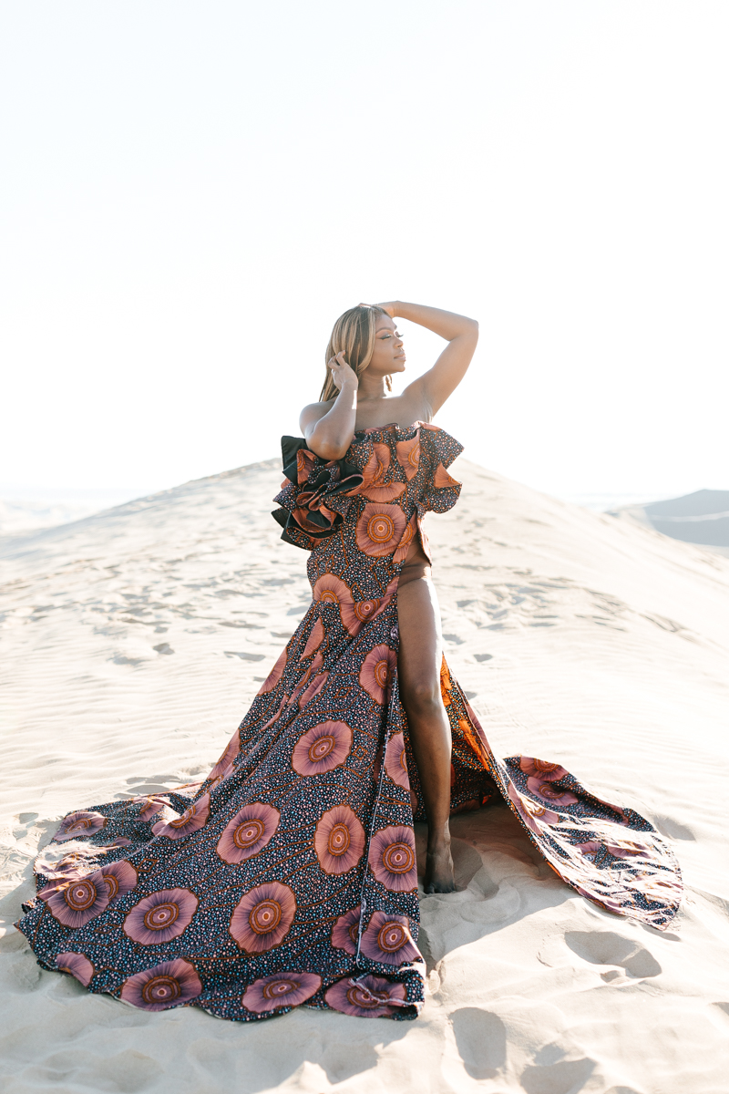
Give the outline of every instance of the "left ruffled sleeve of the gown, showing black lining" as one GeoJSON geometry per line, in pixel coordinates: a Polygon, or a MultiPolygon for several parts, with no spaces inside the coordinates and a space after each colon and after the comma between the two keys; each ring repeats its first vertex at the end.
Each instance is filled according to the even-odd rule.
{"type": "Polygon", "coordinates": [[[281,455],[285,478],[273,499],[281,508],[272,516],[285,543],[313,550],[345,520],[352,504],[348,494],[362,485],[363,474],[346,459],[325,463],[303,437],[282,437],[281,455]]]}

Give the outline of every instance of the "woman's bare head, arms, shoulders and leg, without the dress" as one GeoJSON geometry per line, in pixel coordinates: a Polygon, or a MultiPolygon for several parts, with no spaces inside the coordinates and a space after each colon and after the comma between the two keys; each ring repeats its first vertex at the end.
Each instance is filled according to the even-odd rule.
{"type": "MultiPolygon", "coordinates": [[[[324,385],[321,401],[302,411],[299,424],[307,447],[326,461],[341,459],[356,431],[376,431],[388,422],[407,431],[413,422],[430,422],[466,375],[478,340],[475,319],[437,307],[390,302],[346,312],[330,342],[332,351],[342,345],[346,352],[340,349],[328,361],[331,377],[324,385]],[[427,327],[448,341],[433,368],[399,396],[390,394],[391,375],[405,369],[396,316],[427,327]]],[[[399,691],[427,815],[425,892],[450,893],[455,888],[448,831],[450,723],[440,696],[440,617],[425,550],[416,533],[398,580],[399,691]]]]}

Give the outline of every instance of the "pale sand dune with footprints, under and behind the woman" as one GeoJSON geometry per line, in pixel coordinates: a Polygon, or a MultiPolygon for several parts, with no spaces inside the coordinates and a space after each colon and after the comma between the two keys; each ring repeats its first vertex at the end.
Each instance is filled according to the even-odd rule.
{"type": "Polygon", "coordinates": [[[209,769],[306,608],[257,464],[0,540],[4,1094],[726,1094],[729,559],[454,474],[428,517],[451,667],[497,753],[558,759],[674,842],[675,929],[578,897],[496,806],[454,822],[461,891],[422,898],[416,1022],[150,1014],[37,966],[11,924],[55,821],[209,769]]]}

